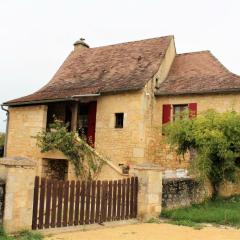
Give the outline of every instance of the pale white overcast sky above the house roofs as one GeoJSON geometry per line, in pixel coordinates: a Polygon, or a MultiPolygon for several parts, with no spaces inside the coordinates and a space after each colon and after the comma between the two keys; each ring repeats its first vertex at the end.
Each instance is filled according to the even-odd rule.
{"type": "MultiPolygon", "coordinates": [[[[47,83],[80,37],[90,47],[174,35],[240,74],[238,0],[0,0],[0,103],[47,83]]],[[[0,131],[5,131],[0,111],[0,131]]]]}

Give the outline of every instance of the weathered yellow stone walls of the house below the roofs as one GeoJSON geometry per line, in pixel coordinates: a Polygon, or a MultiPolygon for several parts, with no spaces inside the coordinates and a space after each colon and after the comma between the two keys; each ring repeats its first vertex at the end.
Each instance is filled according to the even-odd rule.
{"type": "MultiPolygon", "coordinates": [[[[237,93],[154,97],[151,95],[151,84],[153,82],[143,91],[98,98],[96,149],[115,165],[152,162],[164,169],[187,168],[188,157],[180,159],[164,142],[163,104],[196,102],[198,114],[209,108],[219,112],[231,109],[240,111],[237,104],[240,94],[237,93]],[[114,128],[116,112],[124,112],[124,128],[114,128]]],[[[39,175],[42,173],[42,159],[66,159],[59,153],[41,154],[36,147],[33,136],[46,128],[46,115],[47,106],[44,105],[10,108],[7,156],[24,156],[36,160],[39,175]]],[[[71,167],[69,171],[73,173],[71,167]]]]}

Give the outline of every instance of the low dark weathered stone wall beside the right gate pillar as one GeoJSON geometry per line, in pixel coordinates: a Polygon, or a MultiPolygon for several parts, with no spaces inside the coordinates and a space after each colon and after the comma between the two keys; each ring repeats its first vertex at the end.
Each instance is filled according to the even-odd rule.
{"type": "Polygon", "coordinates": [[[201,202],[206,194],[193,178],[163,179],[162,208],[171,209],[201,202]]]}

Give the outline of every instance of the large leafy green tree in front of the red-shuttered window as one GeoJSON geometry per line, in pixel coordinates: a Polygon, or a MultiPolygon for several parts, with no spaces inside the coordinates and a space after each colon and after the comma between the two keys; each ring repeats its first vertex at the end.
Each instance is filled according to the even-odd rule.
{"type": "Polygon", "coordinates": [[[240,114],[209,110],[197,118],[174,121],[164,127],[166,140],[177,153],[194,150],[191,170],[200,180],[210,180],[214,194],[223,181],[235,182],[240,168],[240,114]]]}

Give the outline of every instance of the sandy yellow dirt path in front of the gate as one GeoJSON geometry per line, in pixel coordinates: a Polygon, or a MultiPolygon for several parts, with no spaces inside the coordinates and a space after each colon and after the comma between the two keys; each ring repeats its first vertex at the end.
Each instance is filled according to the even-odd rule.
{"type": "Polygon", "coordinates": [[[62,233],[46,240],[239,240],[240,230],[191,227],[171,224],[134,224],[91,231],[62,233]]]}

